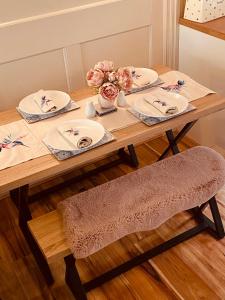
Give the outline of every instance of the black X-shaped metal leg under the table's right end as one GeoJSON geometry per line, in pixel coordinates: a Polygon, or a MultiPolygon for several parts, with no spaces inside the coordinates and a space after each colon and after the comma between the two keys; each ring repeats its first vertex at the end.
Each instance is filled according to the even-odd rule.
{"type": "Polygon", "coordinates": [[[188,131],[194,126],[194,124],[197,122],[193,121],[190,123],[187,123],[184,128],[174,137],[172,129],[166,131],[166,136],[169,141],[169,146],[164,150],[164,152],[161,154],[158,160],[162,160],[165,158],[169,151],[172,150],[173,154],[179,153],[179,148],[177,146],[177,143],[188,133],[188,131]]]}

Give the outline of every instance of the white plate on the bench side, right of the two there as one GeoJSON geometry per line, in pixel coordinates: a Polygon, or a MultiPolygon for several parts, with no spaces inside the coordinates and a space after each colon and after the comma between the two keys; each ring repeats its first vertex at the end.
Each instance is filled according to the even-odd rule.
{"type": "MultiPolygon", "coordinates": [[[[166,91],[157,91],[155,93],[151,93],[151,95],[155,96],[156,98],[160,97],[160,99],[164,99],[168,104],[172,106],[177,106],[177,113],[173,114],[172,116],[176,116],[182,113],[188,107],[188,99],[180,94],[170,93],[166,91]]],[[[133,103],[133,108],[137,112],[147,117],[168,118],[168,116],[165,116],[157,108],[145,101],[143,96],[141,98],[136,99],[133,103]]]]}

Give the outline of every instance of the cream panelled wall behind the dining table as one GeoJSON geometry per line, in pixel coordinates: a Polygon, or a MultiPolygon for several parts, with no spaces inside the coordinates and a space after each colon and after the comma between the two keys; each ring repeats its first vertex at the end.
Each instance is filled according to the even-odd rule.
{"type": "MultiPolygon", "coordinates": [[[[15,5],[10,12],[6,2],[12,1],[3,8],[5,21],[14,21],[0,23],[0,110],[40,88],[85,86],[85,73],[98,60],[117,66],[163,62],[164,0],[41,0],[28,5],[26,15],[15,5]],[[77,6],[81,2],[90,4],[77,6]],[[67,9],[55,11],[61,8],[67,9]]],[[[22,7],[30,2],[18,1],[22,7]]]]}

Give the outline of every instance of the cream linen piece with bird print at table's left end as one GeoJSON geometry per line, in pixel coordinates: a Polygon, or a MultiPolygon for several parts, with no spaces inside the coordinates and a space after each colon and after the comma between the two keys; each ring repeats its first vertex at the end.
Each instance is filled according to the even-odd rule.
{"type": "Polygon", "coordinates": [[[47,154],[24,120],[0,126],[0,170],[47,154]]]}

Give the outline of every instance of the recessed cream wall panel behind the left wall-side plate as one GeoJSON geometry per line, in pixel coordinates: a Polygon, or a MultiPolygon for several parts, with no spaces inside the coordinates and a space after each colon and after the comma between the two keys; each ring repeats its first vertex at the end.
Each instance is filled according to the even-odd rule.
{"type": "Polygon", "coordinates": [[[0,65],[0,109],[18,104],[39,89],[67,90],[63,51],[52,51],[0,65]]]}

